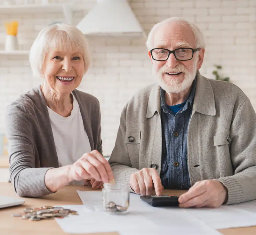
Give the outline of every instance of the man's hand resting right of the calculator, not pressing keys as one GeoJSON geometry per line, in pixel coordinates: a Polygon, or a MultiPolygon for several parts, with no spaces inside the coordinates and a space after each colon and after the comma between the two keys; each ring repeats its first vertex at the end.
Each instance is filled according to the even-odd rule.
{"type": "Polygon", "coordinates": [[[217,208],[227,196],[226,187],[217,180],[202,180],[195,183],[188,192],[179,196],[179,207],[217,208]]]}

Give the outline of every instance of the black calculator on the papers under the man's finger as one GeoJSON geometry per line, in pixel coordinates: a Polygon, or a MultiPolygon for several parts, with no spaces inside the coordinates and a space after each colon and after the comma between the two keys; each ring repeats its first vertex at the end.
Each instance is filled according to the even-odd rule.
{"type": "Polygon", "coordinates": [[[152,206],[179,206],[178,198],[175,195],[151,195],[141,196],[141,200],[152,206]]]}

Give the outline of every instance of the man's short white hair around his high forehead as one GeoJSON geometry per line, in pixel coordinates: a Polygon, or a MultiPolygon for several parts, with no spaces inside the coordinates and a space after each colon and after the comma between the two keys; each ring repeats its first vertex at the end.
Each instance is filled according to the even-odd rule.
{"type": "Polygon", "coordinates": [[[190,27],[190,29],[193,31],[194,33],[194,37],[195,37],[195,47],[196,48],[205,48],[205,39],[203,37],[203,33],[202,31],[199,29],[198,26],[196,26],[195,24],[192,24],[188,21],[186,21],[185,19],[179,18],[179,17],[171,17],[168,19],[165,19],[157,24],[155,24],[150,33],[149,36],[147,37],[147,41],[146,41],[146,46],[149,50],[153,49],[153,38],[154,38],[154,32],[156,29],[158,29],[160,26],[169,23],[171,21],[176,21],[181,23],[183,26],[188,25],[190,27]]]}

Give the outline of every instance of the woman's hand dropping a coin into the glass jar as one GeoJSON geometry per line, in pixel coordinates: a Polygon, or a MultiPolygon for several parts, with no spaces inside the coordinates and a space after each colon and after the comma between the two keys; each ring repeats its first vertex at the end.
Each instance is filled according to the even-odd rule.
{"type": "Polygon", "coordinates": [[[109,162],[97,150],[83,154],[71,165],[69,174],[71,181],[93,178],[99,182],[109,183],[114,179],[109,162]]]}

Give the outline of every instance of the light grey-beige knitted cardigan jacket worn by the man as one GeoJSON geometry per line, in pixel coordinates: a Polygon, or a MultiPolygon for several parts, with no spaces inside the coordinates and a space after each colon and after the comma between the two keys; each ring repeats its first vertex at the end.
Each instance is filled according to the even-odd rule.
{"type": "MultiPolygon", "coordinates": [[[[129,182],[132,173],[150,167],[160,175],[160,115],[157,84],[139,91],[123,108],[109,160],[115,180],[129,182]]],[[[256,114],[234,84],[206,79],[198,72],[187,161],[191,186],[217,179],[227,187],[227,204],[256,199],[256,114]]]]}

